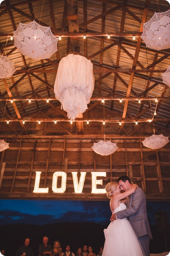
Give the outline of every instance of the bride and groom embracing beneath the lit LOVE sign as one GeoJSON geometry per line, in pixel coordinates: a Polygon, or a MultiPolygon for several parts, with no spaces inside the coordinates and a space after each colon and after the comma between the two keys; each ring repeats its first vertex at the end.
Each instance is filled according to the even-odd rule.
{"type": "Polygon", "coordinates": [[[105,188],[112,216],[110,225],[104,229],[106,241],[102,256],[149,256],[152,234],[146,196],[141,188],[131,184],[128,176],[119,177],[117,182],[109,182],[105,188]]]}

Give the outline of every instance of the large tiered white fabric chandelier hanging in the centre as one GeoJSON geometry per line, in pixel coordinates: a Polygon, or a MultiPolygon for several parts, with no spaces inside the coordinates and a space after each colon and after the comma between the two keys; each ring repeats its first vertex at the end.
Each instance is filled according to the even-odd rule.
{"type": "Polygon", "coordinates": [[[68,118],[75,120],[85,112],[94,90],[93,64],[81,55],[69,54],[60,60],[54,83],[54,94],[67,112],[68,118]]]}

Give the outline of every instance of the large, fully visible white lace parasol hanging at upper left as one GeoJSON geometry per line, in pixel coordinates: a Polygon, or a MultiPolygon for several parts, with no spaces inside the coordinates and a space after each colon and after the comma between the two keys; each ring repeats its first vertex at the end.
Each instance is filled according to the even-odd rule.
{"type": "Polygon", "coordinates": [[[57,51],[58,38],[52,34],[50,27],[43,27],[35,21],[27,24],[19,22],[13,34],[14,45],[31,59],[47,59],[57,51]]]}

